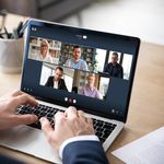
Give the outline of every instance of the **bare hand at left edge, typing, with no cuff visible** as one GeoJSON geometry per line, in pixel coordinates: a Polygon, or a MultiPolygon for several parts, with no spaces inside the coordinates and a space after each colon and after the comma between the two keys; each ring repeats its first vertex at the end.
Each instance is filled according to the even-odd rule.
{"type": "Polygon", "coordinates": [[[0,130],[12,128],[19,125],[30,125],[38,118],[35,115],[17,115],[16,109],[20,105],[37,105],[34,97],[17,91],[0,98],[0,130]]]}

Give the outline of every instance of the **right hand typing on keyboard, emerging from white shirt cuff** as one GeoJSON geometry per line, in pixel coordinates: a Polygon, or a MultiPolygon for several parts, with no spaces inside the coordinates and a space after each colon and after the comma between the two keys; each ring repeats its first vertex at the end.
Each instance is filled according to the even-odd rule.
{"type": "Polygon", "coordinates": [[[45,117],[40,118],[40,124],[49,144],[56,151],[59,151],[60,145],[67,139],[94,133],[92,119],[84,117],[84,113],[74,107],[69,107],[65,113],[58,112],[54,120],[55,129],[45,117]]]}

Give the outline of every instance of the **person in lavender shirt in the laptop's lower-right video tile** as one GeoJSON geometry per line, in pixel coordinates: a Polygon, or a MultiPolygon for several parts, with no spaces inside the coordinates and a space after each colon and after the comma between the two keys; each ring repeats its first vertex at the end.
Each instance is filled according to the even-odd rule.
{"type": "Polygon", "coordinates": [[[95,83],[95,74],[87,75],[87,83],[85,86],[82,87],[81,94],[85,96],[90,96],[93,98],[103,99],[102,94],[94,86],[95,83]]]}

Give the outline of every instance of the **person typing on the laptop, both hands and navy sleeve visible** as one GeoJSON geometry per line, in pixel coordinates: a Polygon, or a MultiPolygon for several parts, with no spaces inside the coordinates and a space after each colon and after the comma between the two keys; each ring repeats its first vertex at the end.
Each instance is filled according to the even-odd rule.
{"type": "MultiPolygon", "coordinates": [[[[21,91],[2,97],[0,130],[37,121],[38,118],[35,115],[16,114],[17,107],[26,104],[37,106],[34,97],[21,91]]],[[[102,143],[94,134],[92,119],[86,118],[82,110],[69,107],[65,113],[57,113],[54,120],[55,129],[46,118],[40,118],[42,130],[51,148],[60,154],[63,164],[108,164],[102,143]]],[[[0,163],[24,164],[1,154],[0,163]]]]}

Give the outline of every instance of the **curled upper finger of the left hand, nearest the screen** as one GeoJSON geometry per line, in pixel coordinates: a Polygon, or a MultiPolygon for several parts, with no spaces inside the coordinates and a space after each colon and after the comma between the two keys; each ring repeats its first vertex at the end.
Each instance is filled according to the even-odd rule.
{"type": "Polygon", "coordinates": [[[36,102],[36,99],[34,97],[30,96],[28,94],[19,95],[16,97],[14,97],[10,103],[11,103],[11,106],[13,109],[19,107],[20,105],[30,104],[32,106],[36,106],[38,104],[36,102]]]}

